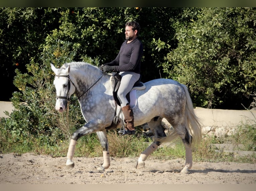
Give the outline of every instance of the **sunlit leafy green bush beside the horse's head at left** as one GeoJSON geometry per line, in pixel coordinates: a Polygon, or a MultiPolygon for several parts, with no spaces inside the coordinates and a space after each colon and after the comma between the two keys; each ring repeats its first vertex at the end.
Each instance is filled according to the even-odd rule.
{"type": "MultiPolygon", "coordinates": [[[[70,43],[58,42],[56,45],[61,54],[55,59],[59,62],[70,62],[75,51],[70,51],[70,43]]],[[[13,93],[11,101],[16,110],[8,114],[9,118],[0,121],[5,138],[16,144],[29,142],[33,144],[34,138],[39,145],[53,146],[68,139],[70,130],[82,123],[83,118],[79,112],[78,103],[70,104],[70,113],[58,113],[54,109],[55,93],[52,85],[53,75],[50,71],[50,62],[53,60],[56,46],[50,46],[42,55],[43,65],[35,63],[32,59],[27,66],[28,73],[16,70],[14,84],[22,92],[13,93]],[[11,137],[8,134],[11,133],[11,137]],[[30,140],[31,138],[31,140],[30,140]]],[[[73,97],[74,99],[74,97],[73,97]]],[[[2,146],[2,145],[1,145],[2,146]]]]}

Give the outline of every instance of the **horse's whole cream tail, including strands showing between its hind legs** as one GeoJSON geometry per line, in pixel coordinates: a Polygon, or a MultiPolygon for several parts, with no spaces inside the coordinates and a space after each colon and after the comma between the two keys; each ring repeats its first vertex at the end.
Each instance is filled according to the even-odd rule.
{"type": "MultiPolygon", "coordinates": [[[[190,136],[192,136],[192,141],[190,141],[190,143],[189,143],[190,146],[195,146],[195,145],[199,144],[202,140],[202,129],[201,129],[201,125],[199,123],[199,118],[196,116],[196,114],[194,112],[193,103],[190,98],[187,87],[183,84],[181,84],[181,86],[183,87],[185,94],[186,94],[184,125],[187,129],[187,132],[189,132],[190,136]]],[[[166,137],[155,138],[155,141],[160,141],[161,143],[171,142],[178,137],[179,136],[178,136],[176,130],[174,129],[166,137]]]]}

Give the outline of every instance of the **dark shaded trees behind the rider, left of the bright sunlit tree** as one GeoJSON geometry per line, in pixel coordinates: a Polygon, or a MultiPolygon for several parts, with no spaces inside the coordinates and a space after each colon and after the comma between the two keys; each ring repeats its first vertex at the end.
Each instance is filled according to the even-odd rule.
{"type": "MultiPolygon", "coordinates": [[[[38,62],[42,51],[57,41],[70,42],[71,49],[76,47],[76,61],[83,60],[85,55],[101,63],[113,60],[124,41],[124,24],[131,20],[141,25],[142,81],[165,77],[160,63],[169,49],[176,47],[171,23],[181,10],[162,7],[1,8],[0,66],[2,78],[8,79],[4,86],[17,91],[13,85],[15,69],[25,73],[30,59],[38,62]]],[[[8,101],[12,92],[8,91],[1,100],[8,101]]]]}

